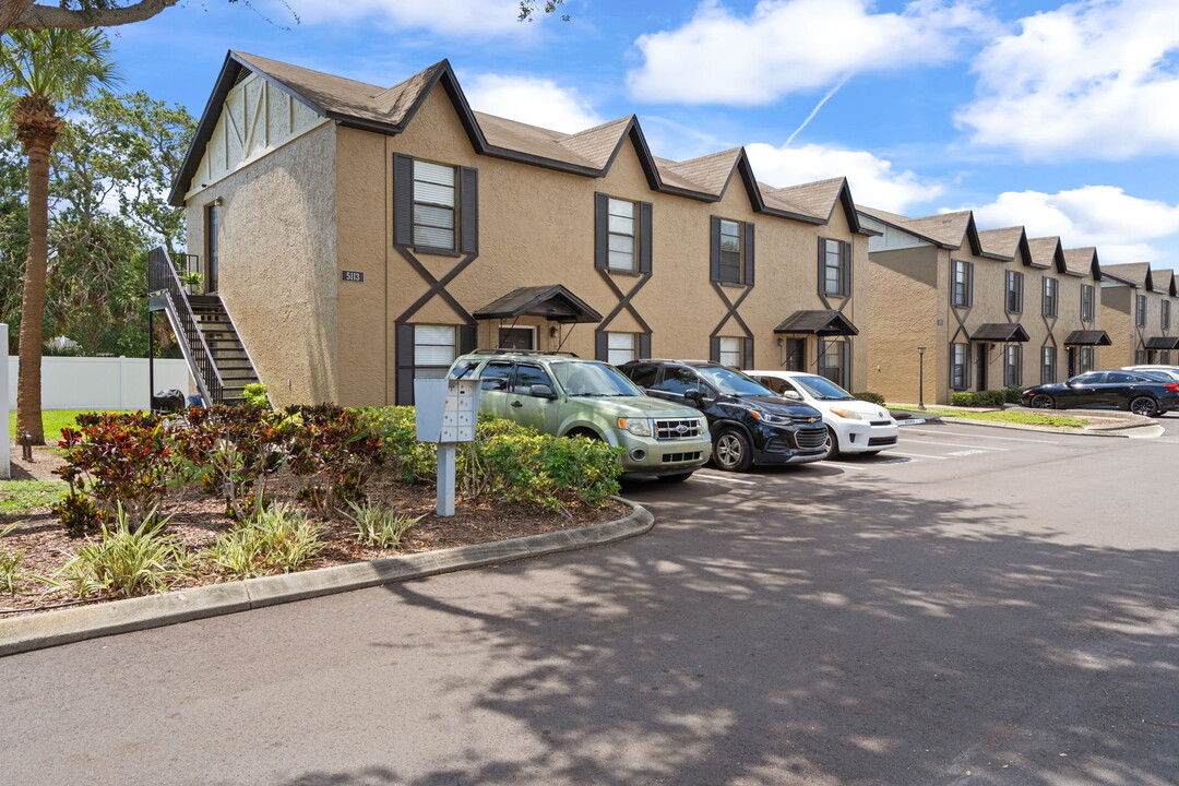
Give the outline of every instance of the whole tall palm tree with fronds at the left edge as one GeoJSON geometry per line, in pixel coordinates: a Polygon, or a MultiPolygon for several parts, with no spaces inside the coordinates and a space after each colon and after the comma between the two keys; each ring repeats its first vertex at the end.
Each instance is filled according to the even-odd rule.
{"type": "Polygon", "coordinates": [[[111,42],[97,29],[11,31],[0,39],[0,106],[28,156],[28,259],[20,318],[17,430],[45,444],[41,425],[41,345],[45,341],[45,270],[50,235],[50,151],[65,123],[58,104],[118,77],[111,42]]]}

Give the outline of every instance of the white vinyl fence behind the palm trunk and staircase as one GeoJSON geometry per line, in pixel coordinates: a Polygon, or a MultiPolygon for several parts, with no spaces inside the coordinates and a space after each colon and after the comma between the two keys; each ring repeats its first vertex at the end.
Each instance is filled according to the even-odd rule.
{"type": "MultiPolygon", "coordinates": [[[[18,358],[9,356],[7,366],[6,404],[17,409],[18,358]]],[[[2,374],[0,381],[4,381],[2,374]]],[[[184,361],[157,359],[156,390],[151,391],[145,357],[41,358],[41,409],[146,410],[151,408],[152,392],[171,388],[185,396],[196,392],[184,361]]]]}

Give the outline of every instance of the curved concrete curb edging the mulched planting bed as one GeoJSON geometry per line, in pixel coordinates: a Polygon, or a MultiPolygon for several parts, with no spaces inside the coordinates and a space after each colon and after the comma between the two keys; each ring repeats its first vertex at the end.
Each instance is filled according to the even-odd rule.
{"type": "Polygon", "coordinates": [[[613,498],[630,506],[631,515],[580,529],[562,529],[507,541],[209,584],[0,620],[0,656],[542,554],[605,546],[641,535],[654,526],[654,516],[646,508],[630,500],[613,498]]]}

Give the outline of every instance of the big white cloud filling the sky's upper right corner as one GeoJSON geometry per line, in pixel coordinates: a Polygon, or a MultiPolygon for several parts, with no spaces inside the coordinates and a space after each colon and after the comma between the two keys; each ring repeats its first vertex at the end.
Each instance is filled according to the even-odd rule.
{"type": "Polygon", "coordinates": [[[1179,2],[1088,0],[1020,20],[975,60],[955,121],[1028,159],[1179,151],[1179,2]]]}

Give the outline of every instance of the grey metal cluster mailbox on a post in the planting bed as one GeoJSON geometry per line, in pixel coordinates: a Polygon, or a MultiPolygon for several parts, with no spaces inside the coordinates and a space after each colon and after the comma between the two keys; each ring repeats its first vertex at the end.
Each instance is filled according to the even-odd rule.
{"type": "Polygon", "coordinates": [[[479,379],[414,379],[414,416],[420,442],[439,447],[440,516],[454,515],[455,445],[475,441],[479,379]]]}

